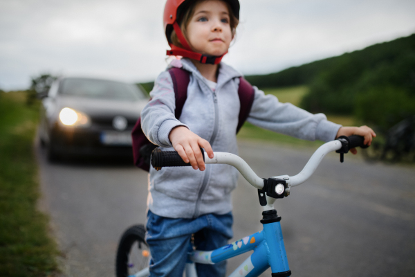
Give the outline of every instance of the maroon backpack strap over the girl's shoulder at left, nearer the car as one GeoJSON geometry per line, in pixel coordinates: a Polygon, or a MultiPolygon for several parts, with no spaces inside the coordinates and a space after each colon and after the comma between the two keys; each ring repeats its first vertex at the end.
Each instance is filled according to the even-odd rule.
{"type": "Polygon", "coordinates": [[[169,69],[169,73],[170,76],[172,76],[174,96],[176,98],[176,109],[174,110],[174,116],[179,118],[187,98],[187,87],[189,87],[190,83],[190,72],[186,71],[185,69],[172,67],[169,69]]]}

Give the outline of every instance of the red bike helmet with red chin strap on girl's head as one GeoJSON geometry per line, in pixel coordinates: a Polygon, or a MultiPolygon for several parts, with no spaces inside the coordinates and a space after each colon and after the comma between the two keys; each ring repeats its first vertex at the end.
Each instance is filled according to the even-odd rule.
{"type": "MultiPolygon", "coordinates": [[[[180,12],[180,8],[189,3],[190,1],[194,0],[167,0],[163,15],[163,25],[165,29],[165,35],[167,37],[167,42],[169,42],[170,48],[172,50],[167,50],[167,55],[174,55],[174,56],[182,56],[182,57],[190,57],[193,60],[199,60],[199,62],[203,64],[219,64],[222,60],[222,57],[226,54],[221,56],[210,56],[210,55],[202,55],[200,53],[196,53],[192,51],[190,48],[185,36],[183,35],[181,28],[177,22],[178,20],[178,12],[180,12]],[[170,41],[170,35],[172,34],[172,30],[176,32],[177,38],[183,48],[175,46],[170,41]]],[[[238,0],[223,0],[229,3],[230,8],[237,19],[239,19],[239,1],[238,0]]]]}

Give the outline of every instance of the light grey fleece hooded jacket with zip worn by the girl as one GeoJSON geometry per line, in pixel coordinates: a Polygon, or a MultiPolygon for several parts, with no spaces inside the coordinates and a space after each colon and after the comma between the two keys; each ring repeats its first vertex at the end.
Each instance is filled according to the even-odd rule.
{"type": "MultiPolygon", "coordinates": [[[[236,129],[239,116],[239,77],[232,67],[219,65],[215,91],[190,60],[174,60],[170,66],[190,71],[187,100],[181,117],[174,116],[175,99],[168,71],[158,75],[150,93],[151,101],[141,112],[141,124],[149,141],[162,150],[174,150],[169,132],[183,125],[209,141],[214,151],[237,154],[236,129]]],[[[341,127],[326,120],[324,114],[310,114],[289,103],[278,102],[255,88],[248,122],[299,139],[331,141],[341,127]]],[[[147,206],[163,217],[194,218],[206,213],[225,214],[232,210],[230,193],[237,185],[238,172],[228,165],[150,169],[147,206]]]]}

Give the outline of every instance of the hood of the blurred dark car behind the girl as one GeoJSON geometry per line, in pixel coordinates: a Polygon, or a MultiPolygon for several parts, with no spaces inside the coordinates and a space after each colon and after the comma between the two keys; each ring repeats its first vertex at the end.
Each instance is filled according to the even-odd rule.
{"type": "Polygon", "coordinates": [[[91,118],[125,116],[127,118],[140,117],[141,110],[148,100],[135,102],[107,100],[97,98],[81,98],[75,96],[61,96],[56,99],[57,109],[69,107],[82,111],[91,118]]]}

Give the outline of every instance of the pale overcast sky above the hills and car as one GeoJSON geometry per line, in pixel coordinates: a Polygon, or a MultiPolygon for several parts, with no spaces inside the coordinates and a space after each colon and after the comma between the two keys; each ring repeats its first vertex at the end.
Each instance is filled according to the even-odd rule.
{"type": "MultiPolygon", "coordinates": [[[[223,62],[277,72],[415,33],[414,0],[240,0],[223,62]]],[[[165,0],[0,0],[0,89],[42,73],[154,80],[167,66],[165,0]]]]}

